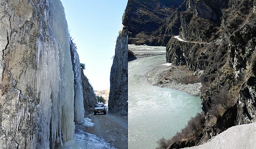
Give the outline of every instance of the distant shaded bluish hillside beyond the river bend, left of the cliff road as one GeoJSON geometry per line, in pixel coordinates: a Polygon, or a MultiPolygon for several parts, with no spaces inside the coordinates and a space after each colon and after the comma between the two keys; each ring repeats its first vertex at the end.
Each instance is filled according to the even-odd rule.
{"type": "Polygon", "coordinates": [[[172,35],[179,34],[179,12],[185,9],[184,0],[129,0],[128,43],[166,46],[172,35]]]}

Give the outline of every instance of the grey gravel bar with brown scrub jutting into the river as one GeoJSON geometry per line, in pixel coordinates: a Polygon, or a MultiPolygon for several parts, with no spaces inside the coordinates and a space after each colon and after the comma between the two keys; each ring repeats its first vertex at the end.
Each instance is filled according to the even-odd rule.
{"type": "Polygon", "coordinates": [[[173,66],[170,63],[153,68],[146,74],[147,82],[158,87],[168,87],[200,96],[200,79],[185,66],[173,66]]]}

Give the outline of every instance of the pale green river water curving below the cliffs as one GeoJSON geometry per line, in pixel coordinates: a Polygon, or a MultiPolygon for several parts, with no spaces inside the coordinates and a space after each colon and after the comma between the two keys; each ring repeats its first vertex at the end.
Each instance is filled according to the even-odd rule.
{"type": "Polygon", "coordinates": [[[165,61],[157,55],[128,63],[129,149],[154,149],[158,139],[171,138],[202,111],[199,97],[147,83],[145,73],[165,61]]]}

